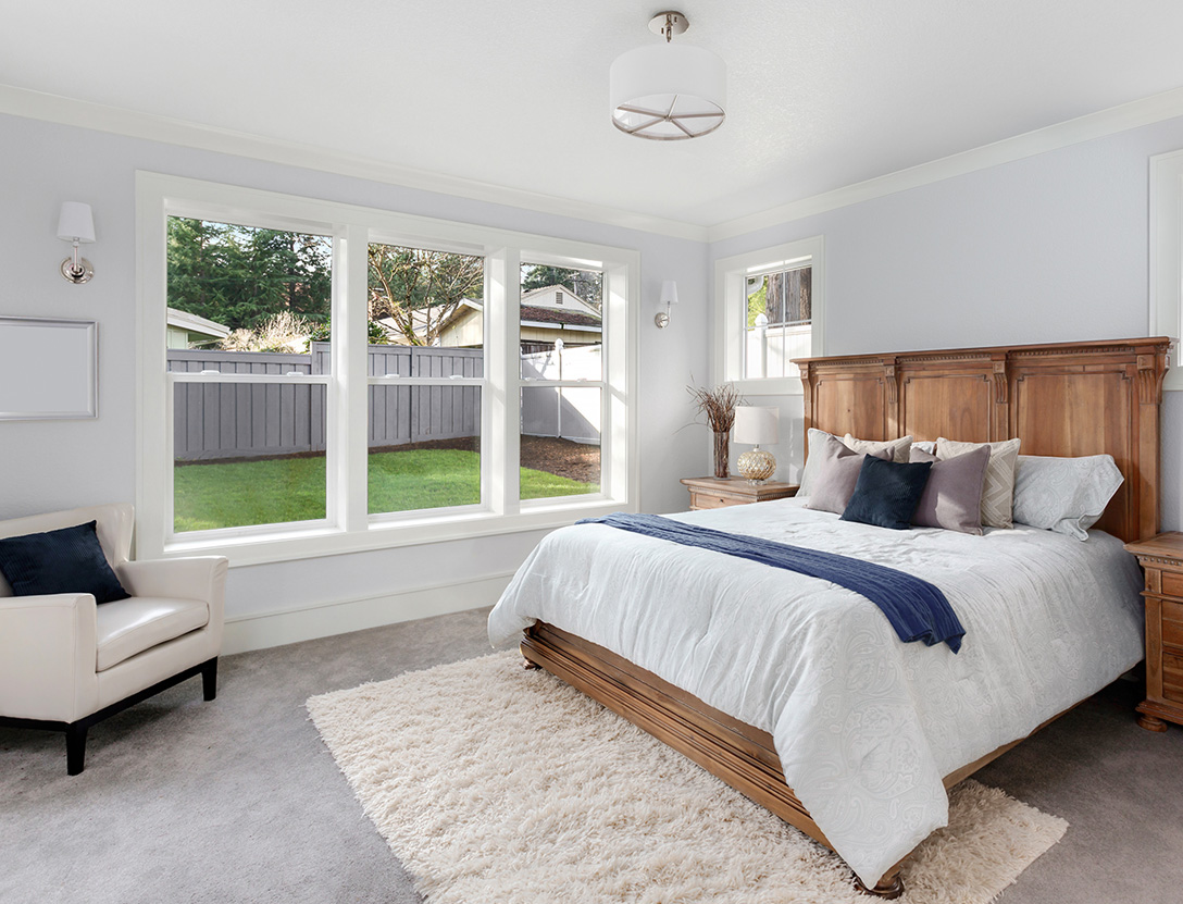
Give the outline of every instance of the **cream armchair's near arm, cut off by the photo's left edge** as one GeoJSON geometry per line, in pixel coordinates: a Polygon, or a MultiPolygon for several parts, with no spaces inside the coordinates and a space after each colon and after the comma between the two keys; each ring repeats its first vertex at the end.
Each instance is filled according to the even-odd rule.
{"type": "Polygon", "coordinates": [[[98,700],[95,598],[0,599],[0,715],[73,722],[98,700]]]}

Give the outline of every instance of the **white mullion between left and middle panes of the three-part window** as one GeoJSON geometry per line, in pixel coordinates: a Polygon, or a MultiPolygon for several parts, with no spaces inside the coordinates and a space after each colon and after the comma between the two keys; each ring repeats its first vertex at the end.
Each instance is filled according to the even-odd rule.
{"type": "Polygon", "coordinates": [[[329,499],[336,504],[336,523],[349,531],[366,530],[369,511],[368,244],[363,226],[349,226],[332,243],[332,344],[337,350],[332,376],[337,405],[329,408],[329,434],[337,441],[328,450],[329,499]]]}

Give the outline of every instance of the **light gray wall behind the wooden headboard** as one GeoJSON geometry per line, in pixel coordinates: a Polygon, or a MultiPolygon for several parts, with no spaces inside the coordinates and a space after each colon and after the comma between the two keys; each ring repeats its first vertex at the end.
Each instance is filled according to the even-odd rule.
{"type": "MultiPolygon", "coordinates": [[[[1148,335],[1149,159],[1170,120],[711,245],[720,257],[826,237],[826,354],[1148,335]]],[[[781,479],[803,459],[782,407],[781,479]]],[[[1163,527],[1183,525],[1183,393],[1163,414],[1163,527]]]]}

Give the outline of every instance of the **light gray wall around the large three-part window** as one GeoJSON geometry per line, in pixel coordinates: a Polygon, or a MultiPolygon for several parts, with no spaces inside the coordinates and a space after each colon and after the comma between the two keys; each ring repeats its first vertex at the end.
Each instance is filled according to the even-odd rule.
{"type": "MultiPolygon", "coordinates": [[[[707,369],[700,243],[13,116],[0,116],[0,314],[98,321],[101,370],[98,420],[0,422],[0,518],[135,498],[137,169],[638,248],[641,505],[684,509],[678,478],[705,472],[705,433],[678,432],[691,419],[683,387],[691,374],[705,379],[707,369]],[[54,233],[58,207],[67,200],[95,212],[97,241],[84,248],[95,279],[83,286],[58,273],[69,246],[54,233]],[[658,330],[652,318],[662,279],[678,280],[683,303],[673,324],[658,330]]],[[[535,531],[234,568],[227,612],[498,574],[515,568],[541,537],[535,531]]]]}

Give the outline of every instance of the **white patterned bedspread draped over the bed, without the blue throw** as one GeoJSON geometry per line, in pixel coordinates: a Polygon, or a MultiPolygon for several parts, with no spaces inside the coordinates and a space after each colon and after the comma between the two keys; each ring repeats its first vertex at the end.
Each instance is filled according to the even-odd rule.
{"type": "Polygon", "coordinates": [[[772,735],[784,777],[867,884],[948,821],[943,776],[1142,659],[1142,579],[1114,537],[891,531],[784,499],[672,516],[931,581],[965,627],[903,644],[867,599],[735,556],[586,524],[549,535],[489,616],[586,638],[772,735]]]}

